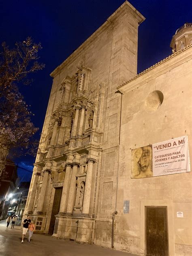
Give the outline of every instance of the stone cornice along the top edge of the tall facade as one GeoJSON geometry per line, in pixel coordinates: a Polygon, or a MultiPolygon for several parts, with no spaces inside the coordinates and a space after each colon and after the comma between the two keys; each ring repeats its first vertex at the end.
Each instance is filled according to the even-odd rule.
{"type": "Polygon", "coordinates": [[[117,19],[120,15],[122,15],[125,11],[130,13],[134,18],[137,19],[138,24],[140,24],[142,21],[145,20],[145,17],[139,13],[128,1],[124,2],[108,19],[103,23],[98,30],[96,30],[87,40],[80,45],[77,50],[75,50],[62,64],[60,64],[53,72],[50,74],[51,77],[55,77],[62,68],[65,65],[68,65],[70,62],[72,62],[79,54],[81,54],[81,51],[83,51],[85,48],[87,48],[100,34],[105,32],[109,26],[113,25],[113,22],[115,19],[117,19]]]}

